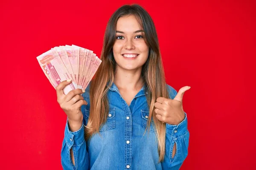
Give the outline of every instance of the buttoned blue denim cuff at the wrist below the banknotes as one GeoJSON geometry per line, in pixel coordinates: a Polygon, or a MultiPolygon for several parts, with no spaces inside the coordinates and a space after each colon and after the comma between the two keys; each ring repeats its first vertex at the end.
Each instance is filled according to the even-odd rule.
{"type": "Polygon", "coordinates": [[[69,148],[71,148],[72,146],[80,146],[81,144],[83,144],[83,142],[85,141],[84,122],[82,123],[82,126],[79,130],[75,132],[71,132],[68,127],[68,119],[67,119],[64,136],[69,148]]]}

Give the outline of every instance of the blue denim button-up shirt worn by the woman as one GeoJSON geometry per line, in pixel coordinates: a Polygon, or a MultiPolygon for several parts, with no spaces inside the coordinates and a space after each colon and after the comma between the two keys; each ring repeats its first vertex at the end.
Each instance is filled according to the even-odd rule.
{"type": "MultiPolygon", "coordinates": [[[[167,84],[166,84],[167,85],[167,84]]],[[[145,132],[149,108],[145,97],[145,86],[132,99],[129,106],[113,83],[108,90],[108,119],[86,142],[84,125],[87,125],[90,112],[90,84],[82,96],[88,105],[82,105],[83,124],[76,132],[71,132],[68,119],[64,130],[61,148],[61,165],[64,170],[178,170],[188,155],[189,131],[187,115],[178,125],[166,123],[166,150],[164,161],[158,163],[158,141],[152,124],[145,132]],[[172,150],[176,143],[176,153],[172,150]],[[70,149],[73,149],[75,166],[70,149]]],[[[177,91],[167,85],[170,99],[177,91]]]]}

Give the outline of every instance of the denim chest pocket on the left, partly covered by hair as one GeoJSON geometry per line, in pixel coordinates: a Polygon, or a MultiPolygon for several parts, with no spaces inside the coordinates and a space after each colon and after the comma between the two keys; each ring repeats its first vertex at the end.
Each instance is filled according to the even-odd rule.
{"type": "MultiPolygon", "coordinates": [[[[85,110],[85,120],[86,120],[86,123],[87,123],[88,119],[89,119],[90,111],[87,110],[87,109],[84,109],[84,110],[85,110]]],[[[109,108],[108,119],[104,124],[102,124],[99,127],[99,131],[103,132],[103,131],[106,131],[106,130],[113,129],[115,127],[116,127],[116,109],[115,108],[109,108]]]]}

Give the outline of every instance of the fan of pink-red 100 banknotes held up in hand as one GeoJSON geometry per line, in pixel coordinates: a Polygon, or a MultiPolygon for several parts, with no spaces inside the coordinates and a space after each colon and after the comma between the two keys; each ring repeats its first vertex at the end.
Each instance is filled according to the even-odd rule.
{"type": "Polygon", "coordinates": [[[64,94],[76,88],[85,90],[102,62],[93,51],[76,45],[51,48],[37,59],[54,88],[60,82],[72,79],[63,89],[64,94]]]}

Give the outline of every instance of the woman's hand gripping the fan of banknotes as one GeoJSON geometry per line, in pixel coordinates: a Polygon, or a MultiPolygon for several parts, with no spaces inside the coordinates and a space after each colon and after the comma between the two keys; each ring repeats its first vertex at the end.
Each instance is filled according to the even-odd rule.
{"type": "Polygon", "coordinates": [[[67,95],[64,94],[63,89],[69,85],[70,82],[71,81],[65,80],[56,87],[57,102],[67,114],[70,130],[77,131],[80,129],[83,122],[81,106],[87,105],[87,102],[80,95],[84,93],[81,89],[72,90],[67,95]]]}

